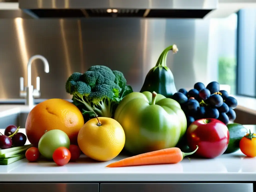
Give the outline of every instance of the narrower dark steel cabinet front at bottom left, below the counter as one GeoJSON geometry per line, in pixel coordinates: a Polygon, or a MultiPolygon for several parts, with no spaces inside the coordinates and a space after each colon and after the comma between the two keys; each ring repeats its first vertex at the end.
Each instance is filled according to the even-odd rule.
{"type": "Polygon", "coordinates": [[[0,183],[6,192],[99,192],[98,183],[0,183]]]}

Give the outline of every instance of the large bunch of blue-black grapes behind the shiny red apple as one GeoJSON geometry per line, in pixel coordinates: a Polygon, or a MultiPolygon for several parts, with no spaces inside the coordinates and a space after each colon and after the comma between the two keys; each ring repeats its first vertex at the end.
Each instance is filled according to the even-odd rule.
{"type": "Polygon", "coordinates": [[[214,118],[228,124],[236,119],[233,109],[237,107],[237,100],[229,96],[225,90],[220,90],[220,84],[216,81],[210,82],[206,87],[197,82],[194,89],[187,91],[179,89],[172,96],[176,100],[187,118],[187,127],[198,119],[214,118]]]}

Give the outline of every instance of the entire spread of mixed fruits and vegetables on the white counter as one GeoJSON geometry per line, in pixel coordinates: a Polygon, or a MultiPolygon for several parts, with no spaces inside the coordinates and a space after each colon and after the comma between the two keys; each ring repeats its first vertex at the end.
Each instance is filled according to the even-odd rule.
{"type": "Polygon", "coordinates": [[[236,119],[237,100],[220,90],[218,82],[197,82],[194,89],[177,92],[166,65],[170,50],[176,53],[178,48],[164,49],[140,92],[133,92],[121,71],[103,65],[73,73],[65,84],[73,102],[49,99],[30,111],[25,129],[31,145],[20,146],[25,137],[17,142],[18,128],[8,128],[0,137],[6,148],[0,150],[0,164],[43,157],[65,165],[81,153],[109,161],[123,148],[135,156],[107,167],[179,163],[193,153],[215,158],[239,149],[256,156],[256,134],[229,124],[236,119]],[[190,153],[179,148],[183,140],[190,153]]]}

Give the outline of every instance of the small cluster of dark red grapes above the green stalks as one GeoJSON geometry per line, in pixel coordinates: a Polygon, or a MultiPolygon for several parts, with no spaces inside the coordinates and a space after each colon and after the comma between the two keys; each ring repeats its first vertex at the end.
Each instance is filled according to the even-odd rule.
{"type": "Polygon", "coordinates": [[[19,133],[19,127],[9,125],[4,130],[4,135],[0,133],[0,148],[8,149],[11,147],[24,146],[27,137],[24,133],[19,133]]]}

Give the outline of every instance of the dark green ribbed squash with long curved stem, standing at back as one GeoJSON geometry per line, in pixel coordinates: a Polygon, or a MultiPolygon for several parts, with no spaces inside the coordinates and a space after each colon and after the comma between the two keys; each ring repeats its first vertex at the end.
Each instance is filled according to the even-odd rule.
{"type": "Polygon", "coordinates": [[[176,53],[178,48],[176,45],[171,45],[162,52],[156,66],[147,73],[144,84],[140,90],[141,93],[144,91],[155,91],[158,94],[170,98],[174,93],[177,92],[174,84],[173,73],[166,66],[166,58],[169,50],[176,53]]]}

